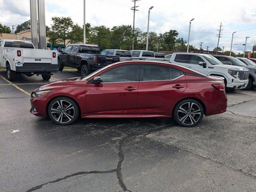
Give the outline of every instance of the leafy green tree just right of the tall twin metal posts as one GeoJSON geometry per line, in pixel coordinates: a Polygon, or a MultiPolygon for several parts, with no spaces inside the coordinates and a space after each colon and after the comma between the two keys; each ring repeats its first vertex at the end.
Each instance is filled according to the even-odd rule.
{"type": "Polygon", "coordinates": [[[70,32],[72,31],[73,21],[70,17],[52,17],[52,32],[50,33],[50,42],[53,44],[70,43],[70,32]]]}

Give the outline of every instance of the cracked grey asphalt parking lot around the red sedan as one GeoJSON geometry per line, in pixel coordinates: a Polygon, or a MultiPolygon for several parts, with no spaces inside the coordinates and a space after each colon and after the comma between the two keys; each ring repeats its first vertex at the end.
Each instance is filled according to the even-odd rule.
{"type": "MultiPolygon", "coordinates": [[[[50,81],[76,76],[64,70],[50,81]]],[[[60,126],[29,112],[41,76],[5,78],[0,70],[0,191],[256,190],[255,89],[228,92],[228,111],[194,128],[165,118],[60,126]]]]}

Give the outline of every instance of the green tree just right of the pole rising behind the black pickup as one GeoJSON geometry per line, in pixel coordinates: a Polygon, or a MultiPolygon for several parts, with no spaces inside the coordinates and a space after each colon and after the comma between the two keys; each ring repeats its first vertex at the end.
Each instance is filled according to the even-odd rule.
{"type": "Polygon", "coordinates": [[[106,26],[96,26],[91,28],[90,43],[97,44],[100,50],[110,48],[111,31],[106,26]]]}

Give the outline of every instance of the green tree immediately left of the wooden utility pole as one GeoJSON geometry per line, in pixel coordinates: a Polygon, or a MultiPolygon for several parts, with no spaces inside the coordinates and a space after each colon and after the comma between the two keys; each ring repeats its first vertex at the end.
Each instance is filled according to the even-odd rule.
{"type": "Polygon", "coordinates": [[[114,49],[124,49],[131,50],[132,49],[132,26],[131,25],[121,25],[114,26],[111,29],[111,48],[114,49]]]}

